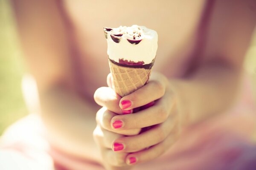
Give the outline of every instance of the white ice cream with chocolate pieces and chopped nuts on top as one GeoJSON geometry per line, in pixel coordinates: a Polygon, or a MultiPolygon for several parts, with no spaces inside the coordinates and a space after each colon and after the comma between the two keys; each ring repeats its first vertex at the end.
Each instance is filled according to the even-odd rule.
{"type": "Polygon", "coordinates": [[[131,27],[111,28],[111,31],[105,31],[108,42],[108,56],[115,62],[119,59],[149,64],[155,58],[157,53],[157,32],[146,28],[145,26],[133,25],[131,27]],[[117,38],[114,42],[111,38],[117,38]],[[118,37],[113,36],[118,35],[118,37]],[[131,43],[128,40],[140,42],[131,43]]]}

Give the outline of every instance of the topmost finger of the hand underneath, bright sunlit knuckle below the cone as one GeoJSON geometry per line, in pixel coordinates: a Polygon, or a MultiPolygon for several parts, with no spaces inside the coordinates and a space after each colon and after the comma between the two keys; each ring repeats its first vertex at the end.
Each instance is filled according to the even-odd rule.
{"type": "Polygon", "coordinates": [[[112,88],[108,87],[98,88],[94,93],[94,100],[98,105],[106,107],[108,110],[118,114],[123,113],[119,107],[120,99],[121,97],[112,88]]]}

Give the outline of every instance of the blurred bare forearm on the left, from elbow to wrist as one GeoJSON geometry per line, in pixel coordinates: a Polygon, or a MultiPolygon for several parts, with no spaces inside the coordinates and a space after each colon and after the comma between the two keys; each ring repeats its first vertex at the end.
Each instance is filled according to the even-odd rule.
{"type": "Polygon", "coordinates": [[[96,106],[61,86],[41,91],[40,99],[50,143],[65,153],[99,162],[93,141],[96,106]]]}

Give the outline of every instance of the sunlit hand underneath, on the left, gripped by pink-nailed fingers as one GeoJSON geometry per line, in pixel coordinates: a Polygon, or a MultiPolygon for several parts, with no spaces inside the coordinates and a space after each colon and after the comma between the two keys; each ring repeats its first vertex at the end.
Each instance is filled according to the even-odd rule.
{"type": "MultiPolygon", "coordinates": [[[[108,85],[110,84],[110,74],[108,85]]],[[[116,130],[111,126],[111,119],[118,114],[128,114],[132,111],[122,111],[119,107],[121,97],[110,87],[102,87],[95,91],[94,99],[102,108],[96,113],[97,127],[93,132],[95,142],[99,146],[102,155],[102,163],[107,170],[127,170],[131,169],[125,162],[127,153],[115,152],[113,141],[124,135],[137,135],[140,128],[130,130],[116,130]]]]}

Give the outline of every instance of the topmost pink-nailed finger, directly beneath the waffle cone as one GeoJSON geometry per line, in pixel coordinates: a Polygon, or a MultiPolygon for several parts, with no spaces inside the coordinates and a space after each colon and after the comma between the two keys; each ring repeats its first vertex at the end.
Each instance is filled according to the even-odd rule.
{"type": "Polygon", "coordinates": [[[131,110],[160,99],[165,94],[166,85],[167,80],[164,76],[151,79],[142,88],[122,97],[119,106],[123,110],[131,110]]]}

